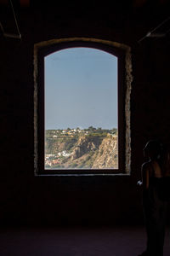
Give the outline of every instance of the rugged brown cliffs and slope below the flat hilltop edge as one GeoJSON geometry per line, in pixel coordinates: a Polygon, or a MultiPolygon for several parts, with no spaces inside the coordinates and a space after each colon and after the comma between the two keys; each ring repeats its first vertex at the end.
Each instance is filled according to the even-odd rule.
{"type": "Polygon", "coordinates": [[[46,148],[47,155],[54,154],[54,159],[47,159],[48,165],[54,169],[118,168],[117,136],[110,133],[59,137],[57,139],[48,138],[46,148]]]}

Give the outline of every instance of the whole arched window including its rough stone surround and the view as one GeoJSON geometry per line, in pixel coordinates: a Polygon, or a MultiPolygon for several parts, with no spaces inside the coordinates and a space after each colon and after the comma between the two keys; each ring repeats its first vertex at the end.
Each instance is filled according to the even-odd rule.
{"type": "Polygon", "coordinates": [[[34,50],[35,173],[129,174],[129,48],[68,38],[34,50]]]}

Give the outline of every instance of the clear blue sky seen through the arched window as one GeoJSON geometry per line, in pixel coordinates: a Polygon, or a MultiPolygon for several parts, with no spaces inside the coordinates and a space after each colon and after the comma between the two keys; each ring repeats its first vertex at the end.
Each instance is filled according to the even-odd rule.
{"type": "Polygon", "coordinates": [[[117,58],[99,49],[45,57],[45,129],[117,127],[117,58]]]}

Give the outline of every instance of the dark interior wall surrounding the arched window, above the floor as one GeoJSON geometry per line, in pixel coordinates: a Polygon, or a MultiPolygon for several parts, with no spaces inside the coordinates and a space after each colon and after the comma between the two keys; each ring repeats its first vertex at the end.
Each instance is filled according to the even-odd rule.
{"type": "MultiPolygon", "coordinates": [[[[114,11],[93,3],[79,9],[72,5],[65,9],[64,4],[55,9],[36,4],[20,9],[22,40],[1,36],[0,218],[4,224],[143,223],[141,191],[136,187],[142,148],[150,138],[170,141],[169,42],[146,39],[138,44],[133,26],[137,15],[130,19],[128,9],[114,11]],[[33,47],[70,37],[112,40],[132,49],[130,176],[34,177],[33,47]]],[[[7,29],[13,22],[9,15],[7,29]]]]}

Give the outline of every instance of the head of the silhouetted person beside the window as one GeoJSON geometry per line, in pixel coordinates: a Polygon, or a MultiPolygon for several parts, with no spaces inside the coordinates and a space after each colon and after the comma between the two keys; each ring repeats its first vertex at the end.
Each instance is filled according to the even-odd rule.
{"type": "Polygon", "coordinates": [[[161,143],[157,140],[150,140],[145,144],[144,156],[152,160],[158,160],[161,157],[161,151],[161,143]]]}

